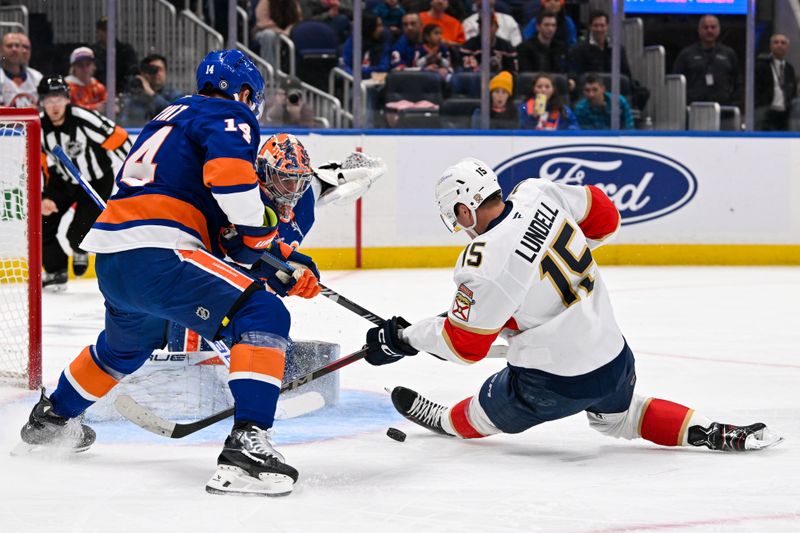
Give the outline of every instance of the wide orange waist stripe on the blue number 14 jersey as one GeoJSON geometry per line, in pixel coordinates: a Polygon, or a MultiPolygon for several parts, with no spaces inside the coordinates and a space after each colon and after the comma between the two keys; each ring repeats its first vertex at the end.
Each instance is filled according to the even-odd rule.
{"type": "Polygon", "coordinates": [[[188,202],[163,194],[142,194],[130,198],[109,200],[98,222],[123,224],[136,220],[172,220],[191,228],[200,235],[203,245],[211,249],[206,217],[188,202]]]}

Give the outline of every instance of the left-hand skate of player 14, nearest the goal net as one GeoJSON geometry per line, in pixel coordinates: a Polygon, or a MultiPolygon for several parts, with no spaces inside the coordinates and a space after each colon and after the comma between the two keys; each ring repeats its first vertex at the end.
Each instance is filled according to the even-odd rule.
{"type": "Polygon", "coordinates": [[[28,422],[20,431],[22,444],[12,455],[32,453],[40,449],[84,452],[94,443],[95,432],[82,424],[80,418],[64,418],[53,412],[53,404],[44,388],[39,402],[33,406],[28,422]]]}

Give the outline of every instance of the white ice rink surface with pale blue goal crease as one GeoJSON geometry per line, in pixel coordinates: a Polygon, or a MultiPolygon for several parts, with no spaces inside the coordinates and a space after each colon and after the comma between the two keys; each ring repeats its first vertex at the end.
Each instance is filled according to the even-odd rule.
{"type": "MultiPolygon", "coordinates": [[[[384,387],[459,401],[500,360],[471,367],[424,354],[341,370],[341,408],[278,423],[300,471],[287,498],[207,495],[227,423],[168,441],[125,423],[69,458],[0,453],[0,532],[800,531],[800,269],[605,268],[637,356],[640,393],[715,420],[763,421],[772,450],[720,454],[618,441],[583,415],[520,435],[459,441],[393,414],[384,387]],[[404,443],[388,426],[408,434],[404,443]]],[[[449,270],[326,272],[323,281],[381,316],[412,322],[450,304],[449,270]]],[[[44,297],[45,383],[103,323],[91,280],[44,297]]],[[[333,302],[292,301],[292,334],[361,347],[369,324],[333,302]]],[[[580,332],[565,332],[580,334],[580,332]]],[[[0,449],[17,442],[35,394],[0,389],[0,449]]]]}

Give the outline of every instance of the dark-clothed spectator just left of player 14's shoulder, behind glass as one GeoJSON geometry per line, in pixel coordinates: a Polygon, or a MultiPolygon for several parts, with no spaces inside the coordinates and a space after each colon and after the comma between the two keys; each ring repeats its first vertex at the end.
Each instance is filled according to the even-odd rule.
{"type": "Polygon", "coordinates": [[[165,107],[183,96],[167,85],[167,58],[150,54],[139,64],[122,95],[120,122],[126,126],[143,126],[165,107]]]}

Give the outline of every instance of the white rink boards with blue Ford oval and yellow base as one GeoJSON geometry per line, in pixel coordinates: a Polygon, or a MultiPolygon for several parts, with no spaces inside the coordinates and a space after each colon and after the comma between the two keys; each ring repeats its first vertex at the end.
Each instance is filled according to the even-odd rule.
{"type": "MultiPolygon", "coordinates": [[[[450,266],[466,243],[451,235],[433,187],[463,157],[492,166],[508,193],[520,180],[595,185],[622,228],[598,251],[617,264],[800,264],[800,138],[509,136],[368,133],[300,136],[320,164],[360,146],[387,174],[362,209],[365,267],[450,266]]],[[[353,266],[355,208],[330,206],[304,243],[323,262],[353,266]]]]}

